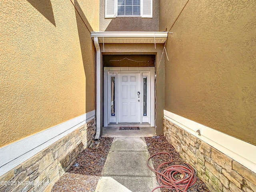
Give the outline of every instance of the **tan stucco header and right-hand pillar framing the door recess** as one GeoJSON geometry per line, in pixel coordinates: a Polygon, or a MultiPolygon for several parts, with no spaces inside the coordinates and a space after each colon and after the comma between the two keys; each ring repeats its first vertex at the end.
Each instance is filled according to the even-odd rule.
{"type": "Polygon", "coordinates": [[[155,54],[156,55],[156,134],[163,134],[164,117],[164,56],[160,62],[163,44],[100,44],[102,54],[155,54]]]}

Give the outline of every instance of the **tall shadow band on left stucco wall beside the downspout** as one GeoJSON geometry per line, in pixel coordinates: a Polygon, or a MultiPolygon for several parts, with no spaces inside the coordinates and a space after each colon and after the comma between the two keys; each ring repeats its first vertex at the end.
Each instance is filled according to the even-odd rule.
{"type": "Polygon", "coordinates": [[[94,110],[94,44],[91,41],[90,26],[77,0],[74,1],[76,24],[80,41],[80,48],[86,77],[86,112],[94,110]],[[79,12],[78,12],[79,11],[79,12]],[[92,49],[92,50],[91,50],[92,49]]]}

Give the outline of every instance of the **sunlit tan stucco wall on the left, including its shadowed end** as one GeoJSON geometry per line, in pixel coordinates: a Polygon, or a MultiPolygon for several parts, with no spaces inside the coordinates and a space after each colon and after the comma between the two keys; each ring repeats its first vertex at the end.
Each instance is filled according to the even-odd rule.
{"type": "Polygon", "coordinates": [[[72,2],[0,10],[0,146],[94,110],[94,49],[72,2]]]}

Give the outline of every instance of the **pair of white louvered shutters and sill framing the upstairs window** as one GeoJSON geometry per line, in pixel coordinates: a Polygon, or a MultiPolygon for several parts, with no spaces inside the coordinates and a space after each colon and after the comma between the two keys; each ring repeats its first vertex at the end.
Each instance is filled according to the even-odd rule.
{"type": "Polygon", "coordinates": [[[120,15],[118,16],[118,0],[105,0],[105,18],[115,17],[153,17],[153,0],[140,0],[140,16],[138,15],[120,15]],[[112,7],[114,6],[114,7],[112,7]],[[150,12],[146,12],[146,6],[150,6],[150,12]],[[107,11],[107,8],[111,8],[111,11],[107,11]],[[145,10],[145,11],[144,11],[145,10]]]}

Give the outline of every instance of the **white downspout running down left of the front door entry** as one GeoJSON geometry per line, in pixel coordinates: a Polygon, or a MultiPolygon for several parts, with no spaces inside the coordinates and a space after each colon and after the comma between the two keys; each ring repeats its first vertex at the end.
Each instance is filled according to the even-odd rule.
{"type": "Polygon", "coordinates": [[[96,48],[96,135],[94,140],[99,140],[100,138],[100,77],[101,77],[101,67],[100,67],[100,44],[98,42],[98,37],[94,37],[94,46],[96,48]]]}

